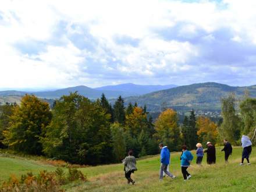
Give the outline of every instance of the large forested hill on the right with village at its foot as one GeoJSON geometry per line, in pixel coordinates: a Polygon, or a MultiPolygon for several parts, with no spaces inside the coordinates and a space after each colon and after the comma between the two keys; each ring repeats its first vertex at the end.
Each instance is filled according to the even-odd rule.
{"type": "Polygon", "coordinates": [[[234,93],[237,98],[241,99],[245,90],[249,91],[250,97],[256,97],[256,86],[232,87],[219,83],[198,83],[138,97],[128,97],[125,98],[125,102],[126,104],[137,102],[140,106],[146,104],[149,111],[160,111],[163,106],[177,111],[190,109],[220,111],[222,97],[234,93]]]}

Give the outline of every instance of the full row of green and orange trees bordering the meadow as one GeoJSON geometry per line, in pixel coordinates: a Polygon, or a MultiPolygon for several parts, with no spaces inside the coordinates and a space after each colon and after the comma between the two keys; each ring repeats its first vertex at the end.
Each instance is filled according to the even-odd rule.
{"type": "Polygon", "coordinates": [[[125,107],[120,96],[109,104],[102,94],[97,101],[70,93],[56,100],[53,108],[34,95],[25,95],[20,105],[0,106],[0,147],[33,155],[45,155],[70,163],[97,165],[120,162],[129,150],[136,157],[158,154],[158,144],[171,151],[186,144],[218,143],[223,138],[239,144],[241,134],[253,134],[256,99],[246,98],[235,109],[234,95],[222,99],[223,122],[216,125],[194,111],[179,125],[177,112],[164,109],[157,120],[147,106],[125,107]]]}

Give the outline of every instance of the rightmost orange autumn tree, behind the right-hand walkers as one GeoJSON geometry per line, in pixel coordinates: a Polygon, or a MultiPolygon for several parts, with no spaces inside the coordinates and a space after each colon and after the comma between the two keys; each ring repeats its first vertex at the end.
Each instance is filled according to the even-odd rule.
{"type": "Polygon", "coordinates": [[[207,141],[211,141],[213,144],[216,143],[218,136],[217,125],[212,122],[209,118],[200,116],[196,122],[198,141],[205,144],[207,141]]]}

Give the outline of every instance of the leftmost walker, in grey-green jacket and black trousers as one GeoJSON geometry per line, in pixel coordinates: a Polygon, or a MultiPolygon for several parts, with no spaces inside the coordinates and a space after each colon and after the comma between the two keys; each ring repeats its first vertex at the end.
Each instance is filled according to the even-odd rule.
{"type": "Polygon", "coordinates": [[[133,156],[133,151],[128,152],[128,156],[123,159],[123,164],[125,165],[125,177],[127,179],[127,184],[134,184],[134,180],[131,179],[131,173],[137,170],[136,168],[136,158],[133,156]]]}

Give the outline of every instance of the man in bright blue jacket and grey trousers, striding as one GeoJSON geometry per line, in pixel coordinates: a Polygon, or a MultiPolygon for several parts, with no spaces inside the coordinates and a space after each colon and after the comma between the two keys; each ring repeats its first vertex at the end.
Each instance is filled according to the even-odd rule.
{"type": "Polygon", "coordinates": [[[170,162],[170,151],[168,150],[168,147],[165,146],[163,147],[163,144],[160,143],[159,144],[159,148],[161,150],[161,156],[160,156],[160,161],[161,161],[161,167],[160,167],[160,176],[159,176],[159,180],[161,181],[163,179],[163,172],[165,172],[166,175],[168,175],[169,177],[171,177],[172,179],[175,178],[174,175],[172,175],[172,173],[170,173],[167,170],[167,167],[169,165],[170,162]]]}

